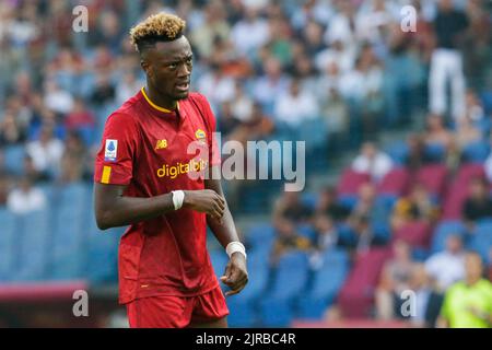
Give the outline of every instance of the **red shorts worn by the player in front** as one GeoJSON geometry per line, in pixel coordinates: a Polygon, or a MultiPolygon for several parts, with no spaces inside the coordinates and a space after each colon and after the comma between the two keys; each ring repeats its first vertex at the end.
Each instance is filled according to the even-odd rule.
{"type": "Polygon", "coordinates": [[[200,324],[229,315],[220,287],[201,295],[149,296],[127,304],[131,328],[184,328],[190,323],[200,324]]]}

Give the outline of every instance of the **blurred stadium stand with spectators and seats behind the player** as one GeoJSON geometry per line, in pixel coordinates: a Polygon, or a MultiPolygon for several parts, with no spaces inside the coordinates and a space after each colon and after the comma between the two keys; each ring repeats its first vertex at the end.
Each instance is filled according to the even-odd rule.
{"type": "MultiPolygon", "coordinates": [[[[251,276],[230,299],[232,325],[490,327],[491,10],[487,0],[1,0],[0,283],[116,282],[122,229],[95,226],[93,160],[107,116],[144,85],[129,28],[168,11],[187,21],[192,90],[223,140],[306,141],[303,192],[224,183],[251,276]],[[72,30],[79,4],[86,33],[72,30]],[[454,310],[460,281],[480,282],[471,311],[454,310]],[[410,316],[406,290],[419,301],[410,316]]],[[[221,273],[226,256],[210,245],[221,273]]]]}

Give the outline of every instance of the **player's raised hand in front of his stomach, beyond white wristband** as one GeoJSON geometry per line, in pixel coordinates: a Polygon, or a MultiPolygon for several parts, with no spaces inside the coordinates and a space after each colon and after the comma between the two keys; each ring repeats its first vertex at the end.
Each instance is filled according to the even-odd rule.
{"type": "Polygon", "coordinates": [[[224,215],[225,200],[212,189],[185,190],[183,206],[221,220],[224,215]]]}

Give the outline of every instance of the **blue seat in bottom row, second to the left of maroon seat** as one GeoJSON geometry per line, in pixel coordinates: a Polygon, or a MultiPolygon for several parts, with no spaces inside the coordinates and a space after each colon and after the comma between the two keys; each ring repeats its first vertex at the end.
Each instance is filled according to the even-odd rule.
{"type": "Polygon", "coordinates": [[[279,260],[269,293],[259,302],[261,324],[286,327],[294,315],[293,301],[305,289],[308,280],[306,254],[290,252],[279,260]]]}

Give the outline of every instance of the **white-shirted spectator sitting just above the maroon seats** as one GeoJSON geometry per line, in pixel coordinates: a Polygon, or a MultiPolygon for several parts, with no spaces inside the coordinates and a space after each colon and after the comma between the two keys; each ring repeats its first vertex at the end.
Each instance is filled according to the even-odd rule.
{"type": "Polygon", "coordinates": [[[372,142],[365,142],[361,153],[352,162],[352,170],[358,173],[367,173],[373,180],[380,180],[393,168],[393,161],[386,153],[378,151],[372,142]]]}

